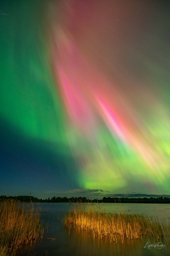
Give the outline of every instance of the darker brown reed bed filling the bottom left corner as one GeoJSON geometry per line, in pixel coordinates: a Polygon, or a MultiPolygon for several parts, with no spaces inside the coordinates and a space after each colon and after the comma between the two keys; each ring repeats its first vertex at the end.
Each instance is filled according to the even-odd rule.
{"type": "Polygon", "coordinates": [[[0,202],[0,255],[15,255],[22,244],[42,238],[40,210],[33,203],[0,202]]]}

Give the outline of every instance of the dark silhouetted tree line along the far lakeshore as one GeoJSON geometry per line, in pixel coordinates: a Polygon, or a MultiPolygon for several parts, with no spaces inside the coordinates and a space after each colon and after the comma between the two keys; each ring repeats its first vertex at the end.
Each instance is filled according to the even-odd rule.
{"type": "Polygon", "coordinates": [[[39,199],[37,197],[31,195],[19,195],[19,196],[6,196],[1,195],[0,201],[13,199],[20,202],[47,202],[47,203],[61,203],[61,202],[92,202],[92,203],[170,203],[170,198],[168,197],[157,197],[157,198],[118,198],[118,197],[103,197],[103,199],[93,199],[89,200],[85,196],[84,197],[56,197],[53,196],[51,199],[39,199]]]}

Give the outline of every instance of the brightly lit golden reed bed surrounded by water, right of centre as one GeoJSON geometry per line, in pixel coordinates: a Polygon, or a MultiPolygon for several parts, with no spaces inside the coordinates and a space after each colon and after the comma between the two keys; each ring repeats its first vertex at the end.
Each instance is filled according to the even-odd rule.
{"type": "MultiPolygon", "coordinates": [[[[100,206],[99,206],[100,207],[100,206]]],[[[168,243],[170,223],[160,223],[157,218],[146,214],[106,213],[91,209],[87,204],[72,204],[71,211],[66,213],[64,225],[69,228],[86,230],[93,238],[104,237],[117,243],[121,239],[137,239],[144,237],[162,238],[168,243]],[[81,207],[80,207],[81,205],[81,207]],[[81,208],[81,209],[80,209],[81,208]],[[84,210],[87,208],[88,210],[84,210]]]]}

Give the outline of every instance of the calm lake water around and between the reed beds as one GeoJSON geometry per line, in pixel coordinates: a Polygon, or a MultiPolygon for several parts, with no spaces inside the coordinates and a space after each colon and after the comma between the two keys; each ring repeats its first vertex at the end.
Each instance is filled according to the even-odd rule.
{"type": "MultiPolygon", "coordinates": [[[[34,207],[39,207],[35,204],[34,207]]],[[[44,237],[42,240],[23,246],[20,256],[168,256],[169,244],[162,239],[148,238],[126,240],[123,244],[110,243],[107,238],[93,239],[89,233],[69,229],[63,225],[63,217],[70,210],[69,203],[40,203],[44,237]],[[151,246],[152,245],[152,246],[151,246]],[[155,246],[156,245],[156,246],[155,246]],[[158,246],[157,246],[158,245],[158,246]],[[162,245],[162,247],[159,247],[162,245]]],[[[170,204],[100,203],[93,204],[100,212],[144,213],[157,217],[159,221],[170,222],[170,204]]],[[[168,238],[170,239],[170,238],[168,238]]]]}

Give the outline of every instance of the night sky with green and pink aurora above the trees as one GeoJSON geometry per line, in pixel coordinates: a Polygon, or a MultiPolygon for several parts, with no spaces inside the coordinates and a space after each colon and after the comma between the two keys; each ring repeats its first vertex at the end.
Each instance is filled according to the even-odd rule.
{"type": "Polygon", "coordinates": [[[169,10],[1,0],[0,195],[170,194],[169,10]]]}

